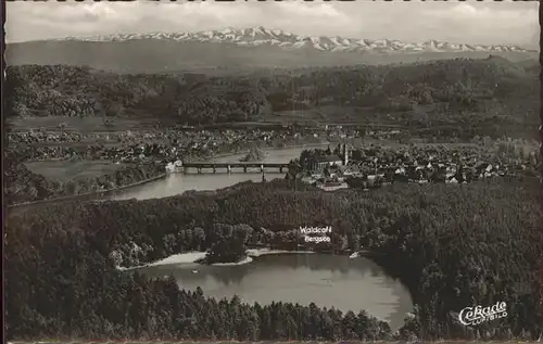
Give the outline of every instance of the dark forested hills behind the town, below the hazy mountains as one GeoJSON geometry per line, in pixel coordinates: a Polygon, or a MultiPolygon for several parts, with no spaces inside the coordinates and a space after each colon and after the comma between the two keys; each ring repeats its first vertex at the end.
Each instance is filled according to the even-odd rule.
{"type": "Polygon", "coordinates": [[[339,120],[418,129],[481,128],[473,135],[526,133],[539,124],[538,74],[503,58],[386,66],[305,68],[239,77],[117,75],[88,67],[12,66],[7,114],[152,116],[180,123],[266,120],[293,109],[327,107],[339,120]]]}

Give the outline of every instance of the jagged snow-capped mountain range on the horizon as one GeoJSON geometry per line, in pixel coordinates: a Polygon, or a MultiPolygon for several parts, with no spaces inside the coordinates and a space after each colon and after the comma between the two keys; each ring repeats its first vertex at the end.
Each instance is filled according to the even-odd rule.
{"type": "Polygon", "coordinates": [[[377,53],[421,53],[421,52],[530,52],[517,46],[482,46],[457,44],[438,40],[419,43],[406,43],[390,39],[355,39],[342,37],[301,36],[280,29],[267,29],[262,26],[253,28],[225,28],[198,33],[153,33],[119,34],[93,37],[67,37],[61,40],[76,41],[127,41],[141,39],[160,39],[179,42],[214,42],[231,43],[242,47],[275,46],[283,49],[316,49],[319,51],[355,51],[377,53]]]}

